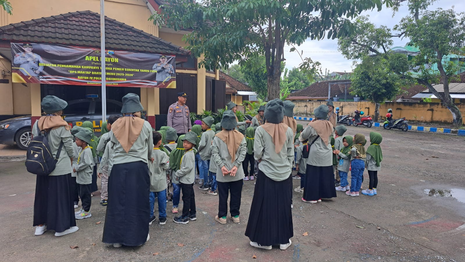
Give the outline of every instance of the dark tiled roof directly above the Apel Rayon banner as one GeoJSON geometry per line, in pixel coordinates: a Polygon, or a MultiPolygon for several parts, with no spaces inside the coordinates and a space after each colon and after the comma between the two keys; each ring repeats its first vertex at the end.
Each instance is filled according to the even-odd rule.
{"type": "MultiPolygon", "coordinates": [[[[105,47],[158,54],[188,55],[189,50],[105,17],[105,47]]],[[[100,47],[100,14],[77,11],[0,27],[0,39],[100,47]]]]}

